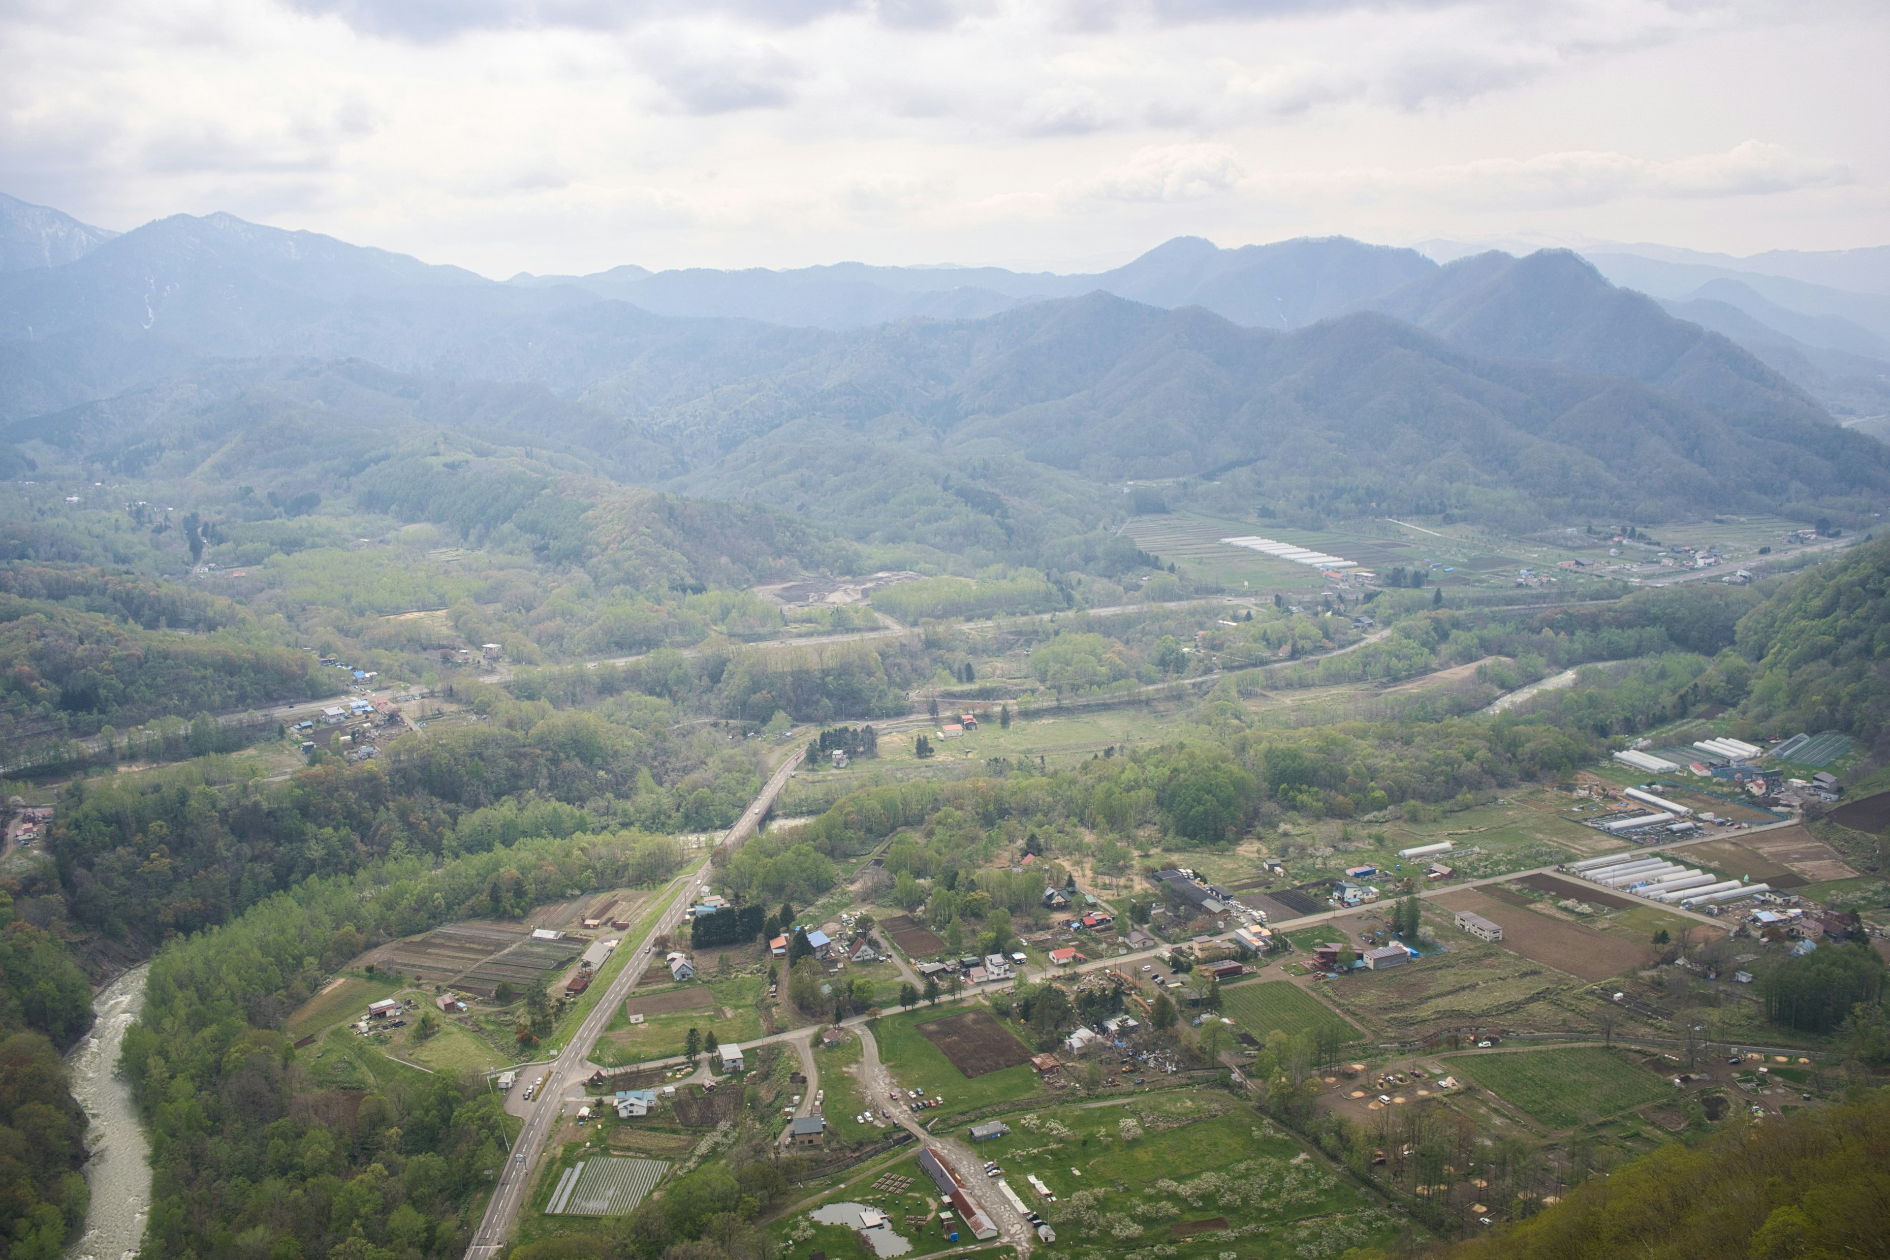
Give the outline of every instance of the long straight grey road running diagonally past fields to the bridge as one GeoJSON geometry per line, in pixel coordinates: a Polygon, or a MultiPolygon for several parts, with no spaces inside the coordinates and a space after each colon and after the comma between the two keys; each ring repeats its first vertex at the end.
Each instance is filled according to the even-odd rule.
{"type": "MultiPolygon", "coordinates": [[[[754,835],[754,827],[767,814],[775,797],[788,782],[788,775],[799,763],[801,748],[790,750],[788,758],[781,763],[762,793],[754,797],[754,803],[743,810],[741,818],[730,827],[728,835],[722,837],[722,844],[741,844],[745,839],[754,835]]],[[[637,954],[631,958],[616,979],[610,980],[610,988],[605,990],[597,1005],[592,1007],[584,1022],[578,1024],[576,1033],[565,1043],[558,1058],[546,1069],[544,1084],[535,1092],[535,1101],[525,1116],[525,1128],[520,1132],[518,1141],[512,1145],[512,1156],[507,1160],[505,1171],[499,1175],[499,1184],[493,1186],[491,1200],[486,1203],[486,1217],[480,1220],[478,1230],[472,1232],[472,1245],[467,1247],[467,1260],[490,1260],[501,1247],[505,1247],[507,1237],[512,1234],[512,1224],[518,1220],[518,1213],[524,1207],[525,1194],[531,1188],[531,1175],[537,1169],[539,1154],[563,1115],[567,1096],[573,1090],[582,1090],[584,1079],[593,1071],[588,1062],[592,1048],[597,1045],[597,1037],[610,1024],[618,1007],[629,997],[629,992],[637,988],[637,980],[643,979],[644,969],[650,965],[650,956],[654,952],[652,943],[656,937],[675,931],[682,922],[682,911],[690,903],[686,888],[709,873],[709,854],[690,869],[686,875],[673,878],[662,892],[662,897],[669,897],[669,907],[656,918],[650,931],[641,943],[624,941],[618,948],[635,948],[637,954]]],[[[660,897],[660,899],[662,899],[660,897]]],[[[524,1088],[529,1077],[520,1077],[522,1084],[514,1088],[524,1088]]]]}

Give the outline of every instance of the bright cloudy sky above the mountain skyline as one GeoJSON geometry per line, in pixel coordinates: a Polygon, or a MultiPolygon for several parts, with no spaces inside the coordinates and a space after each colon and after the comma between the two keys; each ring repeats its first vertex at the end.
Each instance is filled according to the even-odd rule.
{"type": "Polygon", "coordinates": [[[8,0],[0,191],[503,278],[1890,244],[1881,0],[8,0]]]}

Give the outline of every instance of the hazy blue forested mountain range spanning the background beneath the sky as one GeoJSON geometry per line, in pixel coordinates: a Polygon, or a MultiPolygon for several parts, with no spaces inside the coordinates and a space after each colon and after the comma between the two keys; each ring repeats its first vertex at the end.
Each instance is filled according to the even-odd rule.
{"type": "Polygon", "coordinates": [[[1864,512],[1890,491],[1890,450],[1831,417],[1890,410],[1890,338],[1830,310],[1875,319],[1890,297],[1796,278],[1716,274],[1663,304],[1559,249],[1438,266],[1346,238],[1177,238],[1092,276],[501,283],[221,213],[115,238],[45,215],[4,221],[0,438],[19,450],[0,459],[21,467],[185,472],[285,427],[333,450],[299,438],[282,476],[336,485],[455,429],[854,533],[922,482],[1040,538],[1106,518],[1098,484],[1123,478],[1510,523],[1864,512]],[[55,244],[76,257],[34,263],[55,244]]]}

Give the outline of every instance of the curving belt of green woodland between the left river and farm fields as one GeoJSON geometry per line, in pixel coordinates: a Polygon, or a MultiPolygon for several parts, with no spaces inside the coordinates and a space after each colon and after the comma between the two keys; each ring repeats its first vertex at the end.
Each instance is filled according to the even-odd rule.
{"type": "Polygon", "coordinates": [[[361,950],[465,916],[520,914],[567,888],[667,878],[669,841],[637,833],[387,858],[272,894],[151,963],[125,1071],[153,1133],[146,1252],[401,1260],[465,1249],[469,1205],[507,1158],[501,1098],[389,1065],[367,1092],[323,1090],[282,1022],[361,950]],[[648,865],[650,846],[665,860],[648,865]],[[238,1241],[240,1239],[240,1241],[238,1241]]]}

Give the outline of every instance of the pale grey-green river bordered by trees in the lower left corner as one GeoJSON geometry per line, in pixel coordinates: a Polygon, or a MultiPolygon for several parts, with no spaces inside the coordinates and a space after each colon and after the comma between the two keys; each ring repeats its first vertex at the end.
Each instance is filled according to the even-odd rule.
{"type": "Polygon", "coordinates": [[[130,1260],[144,1241],[151,1209],[151,1139],[138,1120],[130,1086],[117,1077],[125,1030],[144,1009],[144,965],[132,967],[93,999],[93,1031],[66,1056],[72,1096],[91,1116],[85,1145],[85,1183],[93,1201],[85,1235],[72,1245],[70,1260],[130,1260]]]}

